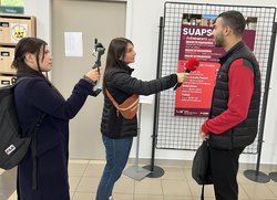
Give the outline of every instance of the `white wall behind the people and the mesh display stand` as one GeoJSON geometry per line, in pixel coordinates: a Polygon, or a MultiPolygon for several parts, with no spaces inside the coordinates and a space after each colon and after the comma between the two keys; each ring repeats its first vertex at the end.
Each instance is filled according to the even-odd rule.
{"type": "MultiPolygon", "coordinates": [[[[184,0],[176,0],[184,2],[184,0]]],[[[47,36],[51,32],[52,25],[49,24],[49,12],[51,12],[52,0],[25,0],[28,7],[28,14],[35,13],[41,24],[40,35],[47,36]],[[42,30],[43,28],[43,30],[42,30]]],[[[133,64],[135,76],[143,80],[155,77],[156,69],[156,50],[157,50],[157,35],[158,35],[158,18],[163,15],[165,0],[126,0],[126,30],[125,35],[135,43],[137,53],[136,62],[133,64]],[[144,20],[146,19],[146,20],[144,20]]],[[[189,1],[191,3],[203,3],[201,0],[189,1]]],[[[244,6],[258,6],[258,7],[277,7],[277,1],[273,0],[213,0],[209,3],[218,4],[244,4],[244,6]]],[[[51,39],[51,36],[49,36],[51,39]]],[[[51,42],[51,41],[50,41],[51,42]]],[[[275,49],[274,66],[277,65],[277,49],[275,49]]],[[[271,82],[269,91],[268,107],[265,123],[265,137],[261,154],[261,164],[277,164],[277,104],[275,98],[277,96],[277,80],[275,78],[276,67],[273,67],[271,82]]],[[[141,151],[140,157],[151,157],[151,135],[153,131],[153,106],[145,105],[142,108],[142,135],[141,135],[141,151]]],[[[72,139],[72,138],[71,138],[72,139]]],[[[135,147],[135,145],[134,145],[135,147]]],[[[134,157],[134,150],[131,157],[134,157]]],[[[186,159],[193,158],[194,151],[184,150],[156,150],[156,157],[163,159],[186,159]]],[[[242,161],[256,162],[256,155],[244,155],[242,161]]]]}

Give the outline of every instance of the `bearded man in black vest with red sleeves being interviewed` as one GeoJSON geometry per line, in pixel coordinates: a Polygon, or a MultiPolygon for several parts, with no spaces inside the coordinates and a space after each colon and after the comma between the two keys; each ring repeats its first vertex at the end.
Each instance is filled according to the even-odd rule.
{"type": "Polygon", "coordinates": [[[238,158],[258,130],[260,72],[255,55],[243,42],[245,24],[240,12],[223,12],[212,33],[215,45],[226,51],[219,59],[209,117],[201,127],[201,136],[211,147],[216,200],[238,199],[238,158]]]}

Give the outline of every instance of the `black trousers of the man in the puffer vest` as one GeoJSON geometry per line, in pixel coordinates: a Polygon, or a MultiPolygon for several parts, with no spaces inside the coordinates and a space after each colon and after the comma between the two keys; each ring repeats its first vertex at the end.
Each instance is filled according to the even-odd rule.
{"type": "Polygon", "coordinates": [[[238,199],[238,158],[244,148],[232,150],[209,147],[211,171],[214,180],[216,200],[238,199]]]}

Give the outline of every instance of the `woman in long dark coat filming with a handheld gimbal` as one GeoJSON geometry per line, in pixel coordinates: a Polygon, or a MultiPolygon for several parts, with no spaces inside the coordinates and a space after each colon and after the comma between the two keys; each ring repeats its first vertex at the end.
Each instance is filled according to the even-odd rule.
{"type": "Polygon", "coordinates": [[[73,118],[99,80],[91,70],[64,99],[42,72],[52,69],[52,56],[47,43],[24,38],[16,46],[12,65],[21,81],[16,86],[16,107],[23,136],[45,114],[37,134],[37,189],[32,189],[33,162],[31,149],[18,166],[19,200],[69,200],[69,119],[73,118]],[[28,77],[28,78],[22,78],[28,77]]]}

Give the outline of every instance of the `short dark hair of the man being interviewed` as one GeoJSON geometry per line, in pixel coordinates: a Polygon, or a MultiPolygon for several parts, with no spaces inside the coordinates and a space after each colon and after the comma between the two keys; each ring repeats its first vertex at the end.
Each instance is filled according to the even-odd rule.
{"type": "Polygon", "coordinates": [[[233,29],[235,35],[242,36],[245,30],[246,21],[244,15],[235,10],[220,13],[217,18],[223,19],[224,25],[228,25],[233,29]]]}

